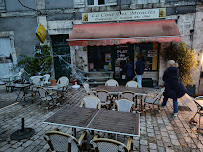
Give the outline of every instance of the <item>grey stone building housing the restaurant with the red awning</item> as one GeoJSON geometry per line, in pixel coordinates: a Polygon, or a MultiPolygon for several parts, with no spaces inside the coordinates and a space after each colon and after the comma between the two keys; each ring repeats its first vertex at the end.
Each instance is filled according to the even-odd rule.
{"type": "MultiPolygon", "coordinates": [[[[82,81],[88,80],[93,84],[103,83],[106,79],[113,77],[121,84],[125,84],[122,66],[126,57],[130,56],[131,60],[135,62],[136,55],[142,52],[147,65],[143,75],[146,83],[151,83],[153,80],[153,85],[160,85],[163,83],[162,75],[165,63],[159,52],[167,42],[178,41],[180,35],[173,35],[173,40],[169,36],[167,37],[167,33],[158,35],[161,40],[154,39],[155,37],[146,40],[145,36],[141,35],[138,40],[138,36],[135,34],[134,41],[132,37],[127,38],[128,42],[132,41],[131,43],[110,44],[116,42],[111,42],[112,37],[116,34],[111,35],[111,31],[107,30],[104,31],[105,37],[98,35],[94,38],[96,43],[88,41],[88,35],[81,39],[88,41],[85,46],[80,45],[78,40],[69,41],[70,37],[75,36],[71,36],[74,34],[72,31],[77,27],[75,25],[82,25],[79,26],[81,36],[84,35],[85,32],[82,30],[87,25],[101,29],[102,25],[111,26],[114,23],[115,26],[122,26],[124,30],[130,30],[130,28],[126,28],[126,25],[131,27],[135,23],[135,28],[137,28],[137,23],[140,23],[149,30],[152,28],[148,24],[151,21],[155,27],[158,27],[160,21],[163,21],[164,24],[167,24],[167,21],[174,21],[170,24],[175,23],[174,28],[178,28],[181,40],[194,49],[198,54],[199,62],[203,62],[202,0],[0,0],[0,44],[5,41],[10,42],[11,45],[7,49],[10,52],[5,55],[8,56],[11,53],[14,64],[16,64],[21,58],[20,55],[32,56],[35,46],[44,45],[40,44],[35,36],[38,24],[42,24],[49,34],[49,39],[45,44],[51,42],[55,55],[56,78],[62,75],[70,78],[71,73],[82,70],[85,75],[79,75],[82,77],[82,81]],[[161,38],[162,36],[167,40],[161,38]],[[104,44],[103,38],[106,37],[109,38],[109,41],[104,44]],[[101,44],[98,42],[100,40],[101,44]],[[138,41],[140,42],[138,43],[138,41]],[[69,43],[75,45],[70,46],[69,43]]],[[[148,31],[146,32],[145,28],[136,32],[143,32],[143,35],[146,35],[148,31]]],[[[114,30],[114,28],[112,29],[114,30]]],[[[127,37],[125,32],[119,33],[119,31],[116,36],[113,38],[122,41],[127,37]],[[120,36],[118,36],[119,34],[120,36]]],[[[1,48],[3,47],[0,46],[1,48]]],[[[2,54],[2,49],[0,51],[2,54]]],[[[9,68],[9,66],[5,67],[5,62],[1,64],[4,64],[5,69],[9,68]]],[[[200,72],[201,64],[198,65],[198,70],[194,71],[193,84],[196,93],[201,91],[198,90],[200,72]]]]}

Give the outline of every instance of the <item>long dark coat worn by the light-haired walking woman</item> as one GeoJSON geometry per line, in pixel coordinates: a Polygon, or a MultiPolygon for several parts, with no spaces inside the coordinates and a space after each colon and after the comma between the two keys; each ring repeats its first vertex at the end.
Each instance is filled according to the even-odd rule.
{"type": "Polygon", "coordinates": [[[182,97],[187,90],[185,86],[178,79],[179,70],[177,67],[169,67],[166,69],[163,75],[163,81],[165,81],[166,92],[164,96],[175,99],[182,97]]]}

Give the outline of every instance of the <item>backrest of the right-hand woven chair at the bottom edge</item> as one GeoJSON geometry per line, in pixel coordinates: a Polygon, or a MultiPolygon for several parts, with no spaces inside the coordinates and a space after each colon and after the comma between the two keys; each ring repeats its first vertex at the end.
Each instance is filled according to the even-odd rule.
{"type": "Polygon", "coordinates": [[[116,140],[107,138],[96,138],[90,141],[95,151],[98,152],[125,152],[128,151],[126,146],[116,140]]]}

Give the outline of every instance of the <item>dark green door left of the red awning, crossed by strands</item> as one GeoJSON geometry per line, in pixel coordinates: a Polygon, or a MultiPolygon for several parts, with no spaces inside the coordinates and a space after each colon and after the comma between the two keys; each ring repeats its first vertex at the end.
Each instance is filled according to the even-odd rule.
{"type": "Polygon", "coordinates": [[[54,35],[51,36],[53,55],[54,55],[54,70],[56,79],[61,76],[67,76],[70,79],[71,74],[71,57],[70,47],[66,39],[69,35],[54,35]]]}

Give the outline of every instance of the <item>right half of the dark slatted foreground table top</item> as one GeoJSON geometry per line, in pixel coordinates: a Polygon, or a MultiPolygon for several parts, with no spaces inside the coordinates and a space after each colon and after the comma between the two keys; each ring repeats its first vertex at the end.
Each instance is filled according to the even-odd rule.
{"type": "Polygon", "coordinates": [[[137,113],[100,109],[93,122],[87,128],[107,133],[139,136],[140,115],[137,113]]]}

